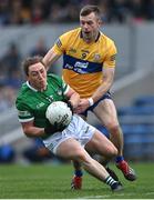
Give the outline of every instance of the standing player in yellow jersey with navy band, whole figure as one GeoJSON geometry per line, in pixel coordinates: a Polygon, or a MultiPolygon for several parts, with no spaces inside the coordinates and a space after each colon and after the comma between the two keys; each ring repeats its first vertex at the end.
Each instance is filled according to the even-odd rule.
{"type": "MultiPolygon", "coordinates": [[[[95,114],[117,148],[117,168],[127,180],[134,181],[135,172],[123,158],[123,132],[109,92],[114,79],[116,48],[114,42],[100,31],[101,19],[99,7],[84,6],[80,11],[80,28],[62,34],[42,61],[49,69],[50,64],[63,54],[63,79],[81,96],[75,108],[76,113],[84,119],[88,111],[95,114]]],[[[93,148],[91,147],[89,151],[93,151],[93,148]]],[[[81,166],[75,162],[74,169],[71,186],[81,189],[81,166]]]]}

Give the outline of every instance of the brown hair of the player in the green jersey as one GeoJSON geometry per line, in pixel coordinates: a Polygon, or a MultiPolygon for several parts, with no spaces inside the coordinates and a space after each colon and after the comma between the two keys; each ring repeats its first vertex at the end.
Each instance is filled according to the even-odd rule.
{"type": "MultiPolygon", "coordinates": [[[[43,57],[40,57],[40,56],[35,56],[35,57],[28,57],[23,62],[22,62],[22,66],[23,66],[23,70],[24,70],[24,73],[27,76],[29,76],[29,67],[32,66],[32,64],[35,64],[38,62],[42,62],[42,59],[43,57]]],[[[44,66],[44,64],[43,64],[44,66]]]]}

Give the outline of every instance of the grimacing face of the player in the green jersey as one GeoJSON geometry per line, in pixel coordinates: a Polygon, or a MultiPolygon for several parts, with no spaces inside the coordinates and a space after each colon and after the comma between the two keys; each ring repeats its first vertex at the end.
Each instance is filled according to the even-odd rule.
{"type": "Polygon", "coordinates": [[[39,91],[45,90],[47,70],[41,62],[30,66],[28,80],[34,89],[39,91]]]}

